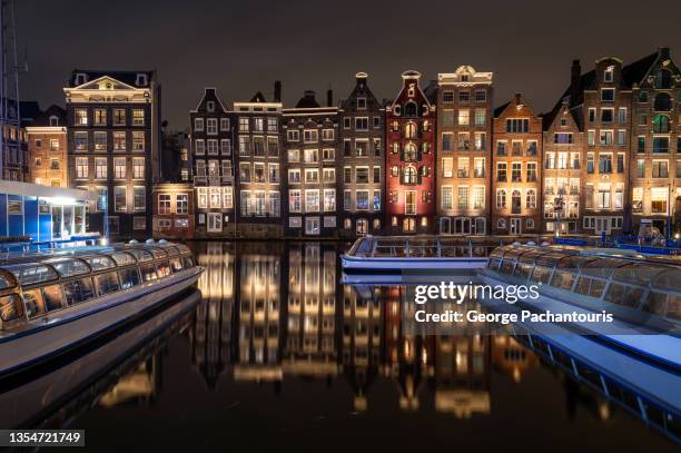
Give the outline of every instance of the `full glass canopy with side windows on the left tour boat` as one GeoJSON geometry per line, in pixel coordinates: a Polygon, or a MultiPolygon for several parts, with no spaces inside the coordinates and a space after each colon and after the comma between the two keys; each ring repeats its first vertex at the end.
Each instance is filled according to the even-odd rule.
{"type": "Polygon", "coordinates": [[[126,246],[0,265],[0,331],[195,265],[189,248],[150,248],[126,246]]]}

